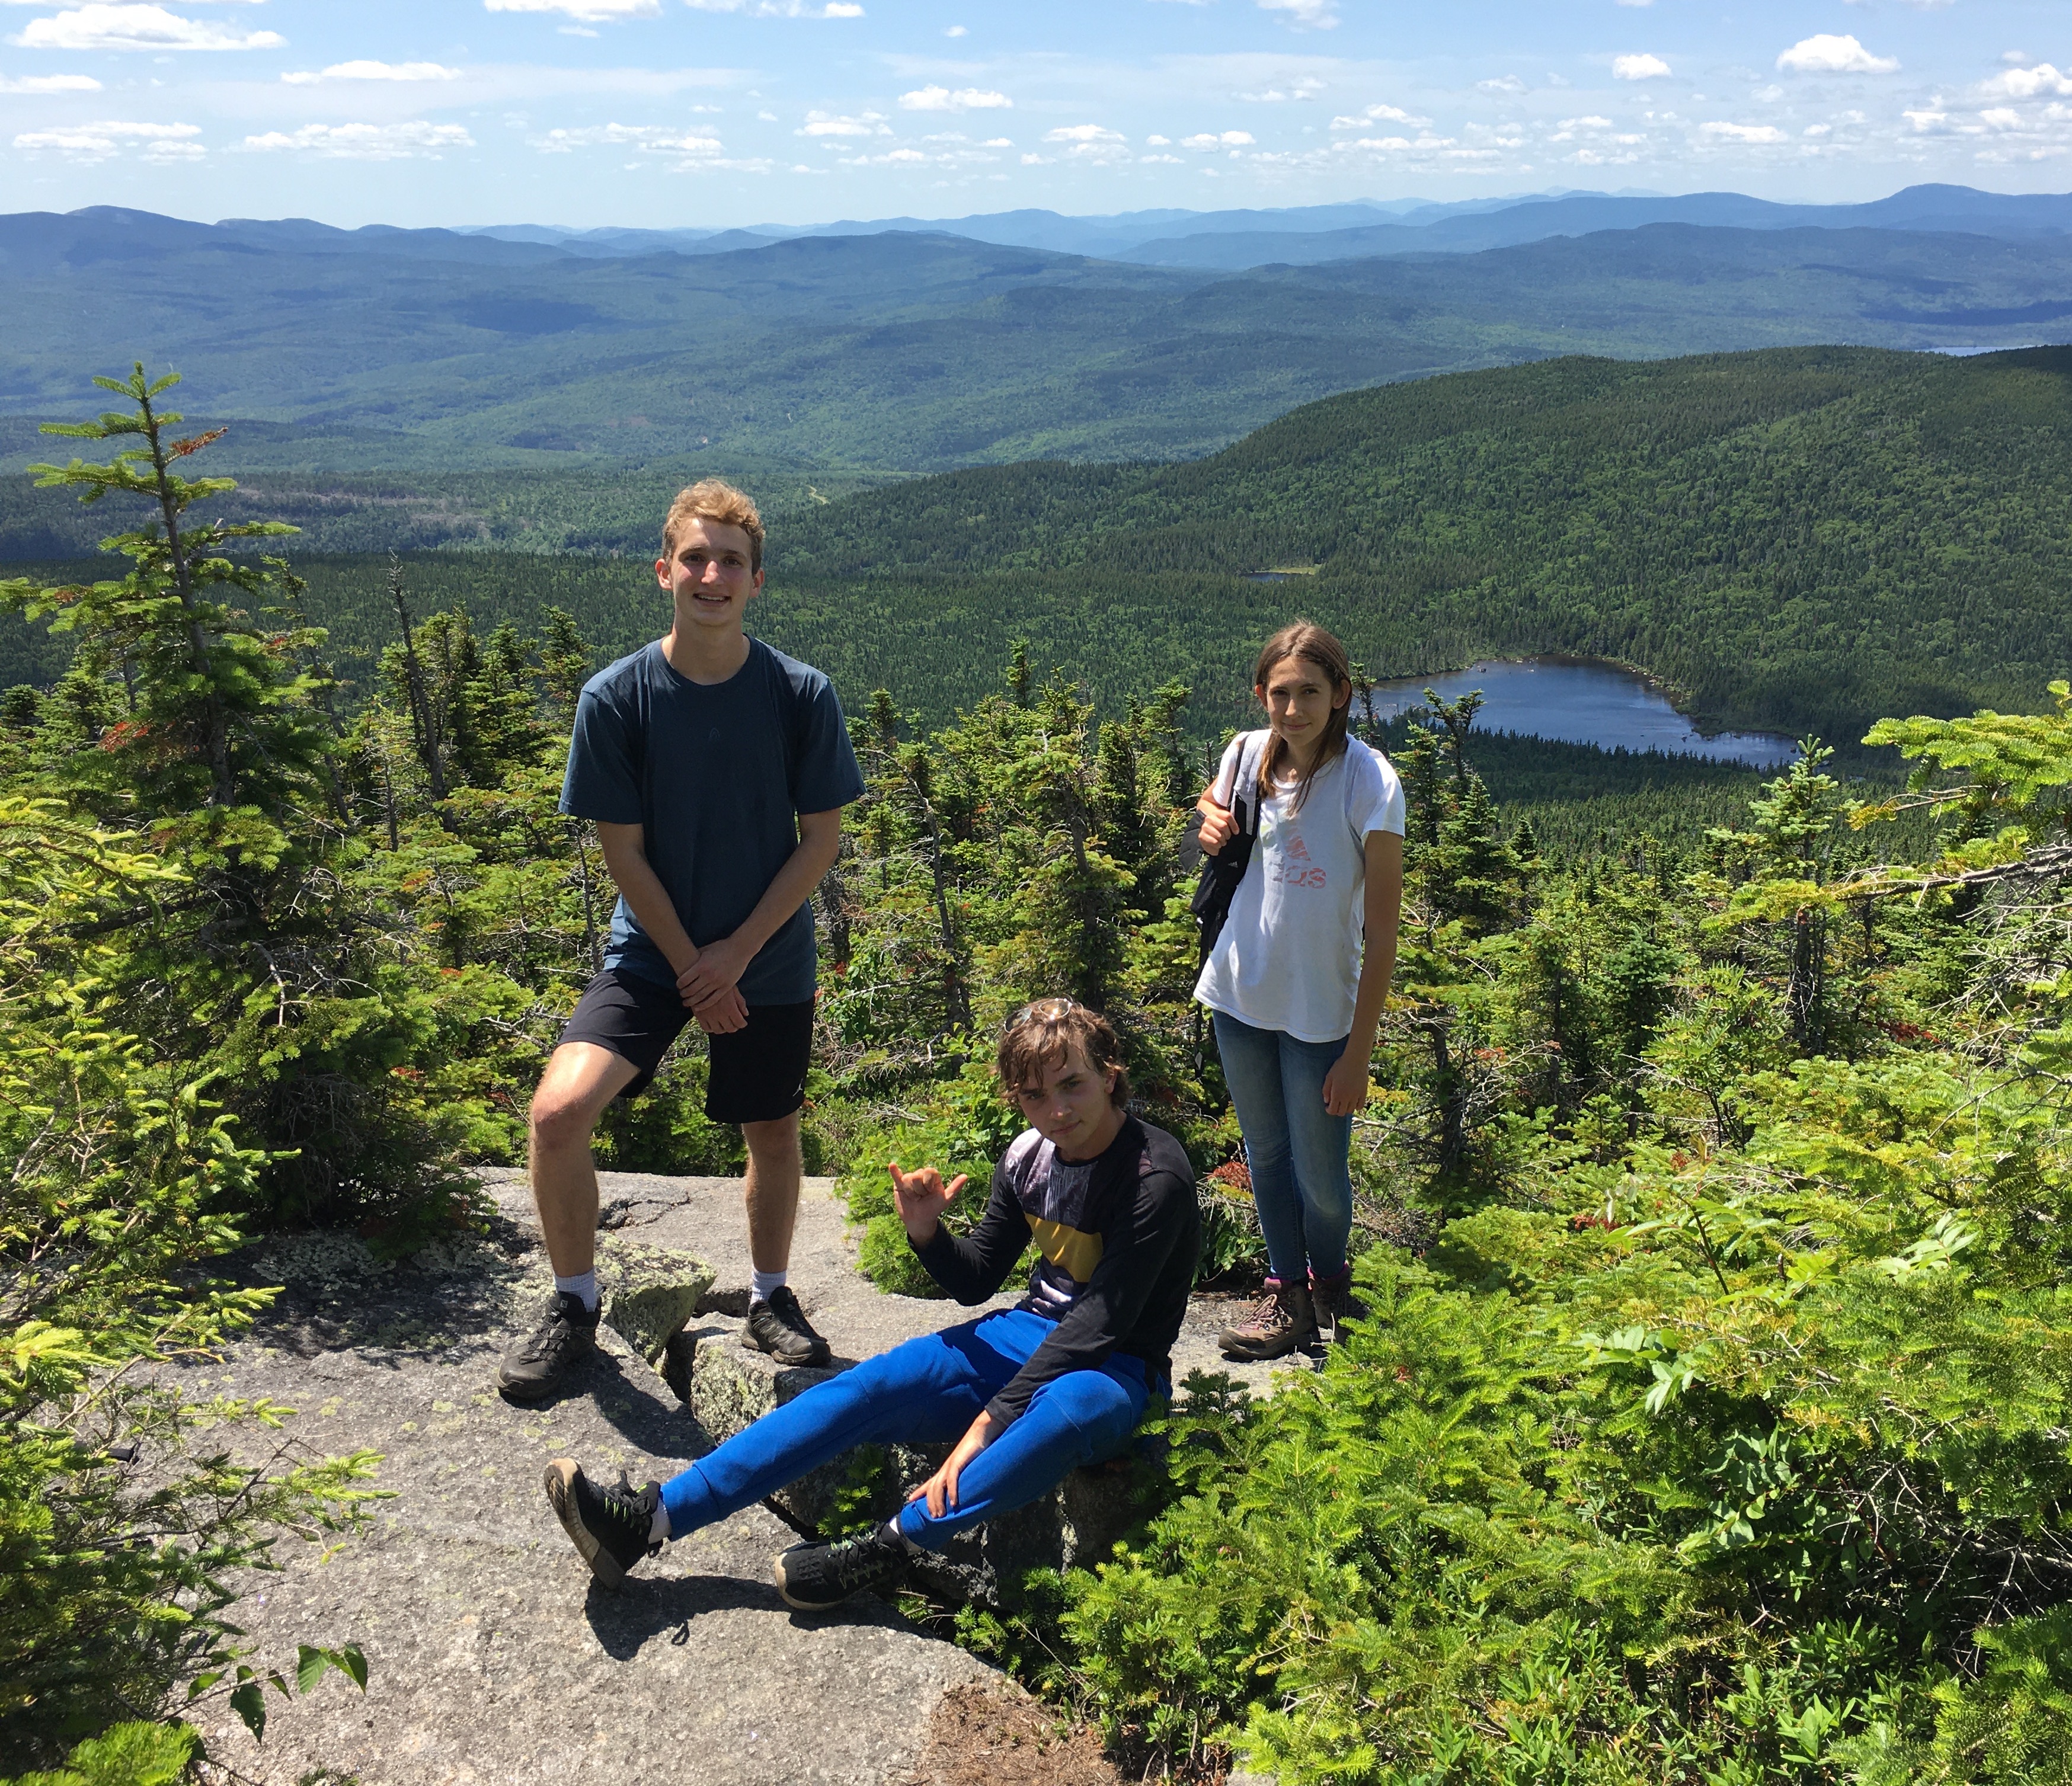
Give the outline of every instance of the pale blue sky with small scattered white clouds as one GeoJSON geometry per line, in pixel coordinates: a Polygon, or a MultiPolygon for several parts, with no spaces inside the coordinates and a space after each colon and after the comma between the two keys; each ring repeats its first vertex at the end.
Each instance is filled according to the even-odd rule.
{"type": "Polygon", "coordinates": [[[0,0],[0,209],[729,228],[2072,189],[2066,0],[0,0]]]}

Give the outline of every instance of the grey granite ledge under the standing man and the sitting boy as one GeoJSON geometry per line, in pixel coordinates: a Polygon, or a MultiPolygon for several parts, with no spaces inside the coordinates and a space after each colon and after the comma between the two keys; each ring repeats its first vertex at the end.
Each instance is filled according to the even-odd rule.
{"type": "MultiPolygon", "coordinates": [[[[533,1407],[495,1394],[495,1367],[551,1274],[524,1175],[487,1171],[483,1185],[487,1233],[406,1262],[327,1233],[249,1247],[230,1262],[234,1276],[282,1295],[222,1359],[174,1372],[197,1396],[294,1409],[286,1436],[313,1454],[381,1452],[375,1486],[392,1496],[363,1535],[284,1539],[280,1573],[251,1577],[236,1612],[265,1666],[292,1664],[296,1643],[356,1643],[367,1695],[327,1676],[309,1699],[276,1699],[263,1745],[220,1701],[205,1705],[197,1722],[211,1753],[265,1786],[321,1767],[361,1786],[905,1778],[943,1695],[999,1676],[874,1597],[818,1616],[777,1597],[771,1560],[827,1517],[854,1459],[667,1546],[620,1593],[593,1583],[541,1492],[547,1459],[564,1454],[593,1475],[667,1479],[825,1376],[783,1372],[740,1343],[750,1270],[740,1181],[603,1175],[607,1297],[613,1283],[667,1295],[630,1301],[620,1326],[607,1305],[595,1355],[533,1407]],[[686,1295],[692,1283],[704,1287],[686,1295]]],[[[833,1185],[808,1181],[792,1285],[835,1367],[982,1312],[883,1295],[854,1258],[833,1185]]],[[[1017,1295],[1009,1285],[986,1307],[1017,1295]]],[[[1216,1357],[1222,1314],[1189,1314],[1175,1376],[1227,1370],[1264,1390],[1270,1367],[1216,1357]]],[[[887,1513],[939,1457],[887,1459],[874,1490],[887,1513]]],[[[951,1558],[926,1585],[986,1600],[1032,1562],[1092,1560],[1121,1519],[1102,1496],[1119,1492],[1080,1473],[1048,1504],[997,1521],[976,1556],[951,1558]]]]}

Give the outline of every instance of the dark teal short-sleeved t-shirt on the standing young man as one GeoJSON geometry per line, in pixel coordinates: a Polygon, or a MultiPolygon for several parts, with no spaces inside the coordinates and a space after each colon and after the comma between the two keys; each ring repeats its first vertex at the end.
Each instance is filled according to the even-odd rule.
{"type": "MultiPolygon", "coordinates": [[[[582,686],[562,810],[638,825],[649,866],[700,949],[733,934],[798,847],[798,814],[864,794],[835,686],[818,669],[748,640],[725,682],[698,684],[644,644],[582,686]]],[[[663,986],[675,972],[632,908],[611,914],[607,968],[663,986]]],[[[804,903],[742,974],[748,1005],[812,999],[812,905],[804,903]]]]}

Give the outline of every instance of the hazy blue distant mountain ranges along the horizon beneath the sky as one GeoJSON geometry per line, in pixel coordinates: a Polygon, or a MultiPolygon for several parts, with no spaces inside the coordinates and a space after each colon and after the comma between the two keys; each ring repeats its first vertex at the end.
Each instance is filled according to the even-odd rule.
{"type": "MultiPolygon", "coordinates": [[[[186,373],[186,408],[274,425],[234,437],[238,472],[570,454],[912,472],[1191,458],[1334,392],[1577,352],[1975,352],[2072,334],[2072,230],[2057,228],[2072,197],[1569,193],[1347,226],[1361,209],[1380,211],[1009,213],[731,249],[31,211],[0,218],[15,319],[0,421],[97,408],[89,373],[145,358],[186,373]],[[1676,207],[1703,220],[1664,215],[1676,207]],[[1316,228],[1280,228],[1291,218],[1316,228]],[[959,234],[1080,224],[1185,230],[1152,247],[1191,240],[1198,257],[1272,240],[1280,259],[1167,265],[1144,244],[1123,259],[959,234]],[[1504,232],[1519,240],[1486,244],[1504,232]],[[1423,251],[1339,253],[1401,238],[1423,251]]],[[[0,448],[0,468],[25,462],[0,448]]]]}

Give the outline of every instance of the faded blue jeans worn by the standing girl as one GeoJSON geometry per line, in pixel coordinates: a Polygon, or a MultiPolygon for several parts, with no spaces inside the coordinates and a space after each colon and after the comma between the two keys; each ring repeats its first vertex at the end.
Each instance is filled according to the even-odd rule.
{"type": "Polygon", "coordinates": [[[1245,1131],[1251,1202],[1266,1235],[1266,1262],[1285,1285],[1345,1272],[1353,1233],[1353,1119],[1324,1108],[1324,1075],[1345,1042],[1297,1042],[1285,1030],[1254,1030],[1222,1011],[1216,1053],[1245,1131]]]}

